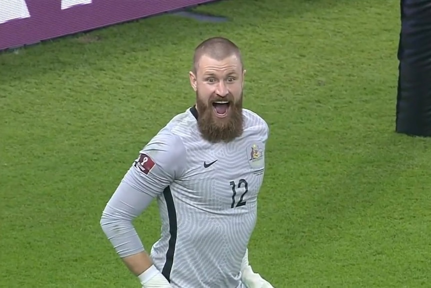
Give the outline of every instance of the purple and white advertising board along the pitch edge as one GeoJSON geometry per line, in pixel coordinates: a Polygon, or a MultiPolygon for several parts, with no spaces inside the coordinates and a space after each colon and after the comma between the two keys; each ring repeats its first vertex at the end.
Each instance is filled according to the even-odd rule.
{"type": "Polygon", "coordinates": [[[0,0],[0,50],[214,0],[0,0]]]}

